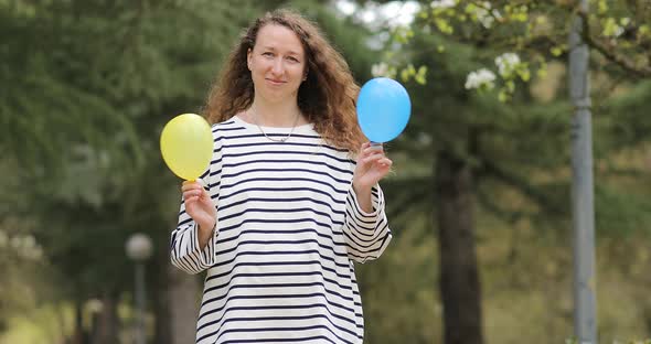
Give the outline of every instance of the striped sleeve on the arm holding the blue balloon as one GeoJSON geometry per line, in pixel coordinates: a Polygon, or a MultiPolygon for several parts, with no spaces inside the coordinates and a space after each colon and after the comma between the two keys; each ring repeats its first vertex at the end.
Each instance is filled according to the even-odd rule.
{"type": "Polygon", "coordinates": [[[357,262],[378,258],[392,238],[380,185],[373,186],[371,194],[372,213],[362,209],[352,185],[345,201],[343,233],[349,258],[357,262]]]}

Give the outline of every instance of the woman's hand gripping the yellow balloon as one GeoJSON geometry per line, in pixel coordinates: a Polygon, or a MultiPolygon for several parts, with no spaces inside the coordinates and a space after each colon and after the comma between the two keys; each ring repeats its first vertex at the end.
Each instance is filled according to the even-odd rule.
{"type": "Polygon", "coordinates": [[[217,211],[211,195],[195,181],[184,181],[181,190],[185,202],[185,213],[194,219],[201,232],[210,230],[212,233],[217,221],[217,211]]]}

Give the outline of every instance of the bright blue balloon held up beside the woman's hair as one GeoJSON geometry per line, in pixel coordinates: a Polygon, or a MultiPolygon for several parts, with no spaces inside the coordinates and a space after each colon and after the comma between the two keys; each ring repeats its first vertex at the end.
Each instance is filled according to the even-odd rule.
{"type": "Polygon", "coordinates": [[[403,85],[387,77],[369,80],[357,97],[357,121],[371,142],[395,139],[407,126],[412,101],[403,85]]]}

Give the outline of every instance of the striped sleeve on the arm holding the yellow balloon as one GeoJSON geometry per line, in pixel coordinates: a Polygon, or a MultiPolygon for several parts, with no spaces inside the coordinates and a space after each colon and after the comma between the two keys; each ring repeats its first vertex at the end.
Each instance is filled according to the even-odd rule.
{"type": "MultiPolygon", "coordinates": [[[[214,149],[213,158],[209,170],[200,178],[204,181],[213,203],[216,205],[220,195],[220,182],[222,174],[222,148],[221,139],[217,138],[213,127],[214,149]]],[[[215,264],[216,240],[218,224],[215,225],[213,237],[207,241],[204,249],[199,246],[199,225],[185,212],[185,202],[181,200],[179,223],[171,235],[170,257],[172,265],[188,273],[199,273],[215,264]]]]}

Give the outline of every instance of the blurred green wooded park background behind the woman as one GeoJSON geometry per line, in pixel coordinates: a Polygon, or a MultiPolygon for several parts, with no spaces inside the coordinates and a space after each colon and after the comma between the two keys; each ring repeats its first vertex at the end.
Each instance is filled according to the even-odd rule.
{"type": "Polygon", "coordinates": [[[412,97],[386,144],[394,241],[357,269],[372,344],[574,336],[583,17],[599,342],[651,337],[651,2],[586,2],[0,0],[0,343],[193,343],[202,276],[169,262],[181,181],[159,136],[279,7],[317,21],[360,85],[389,76],[412,97]]]}

